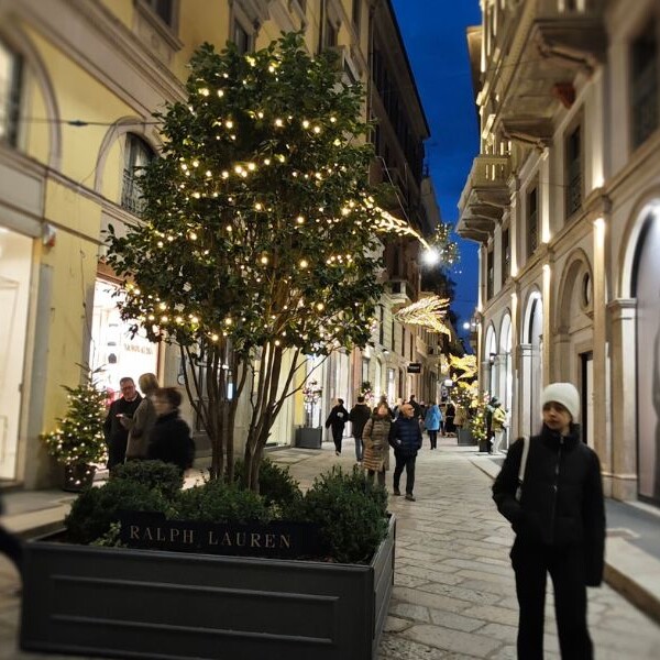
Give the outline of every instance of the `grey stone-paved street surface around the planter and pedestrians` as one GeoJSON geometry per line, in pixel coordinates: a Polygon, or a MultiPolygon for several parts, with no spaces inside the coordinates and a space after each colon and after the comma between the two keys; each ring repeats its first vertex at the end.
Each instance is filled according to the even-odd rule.
{"type": "MultiPolygon", "coordinates": [[[[306,487],[331,464],[352,466],[352,440],[345,444],[339,458],[331,443],[322,451],[286,449],[271,455],[288,464],[306,487]]],[[[378,660],[516,657],[518,615],[508,559],[513,534],[494,507],[491,479],[475,466],[474,455],[453,439],[429,451],[425,438],[417,460],[417,502],[391,498],[397,516],[396,574],[378,660]]],[[[392,473],[388,486],[391,480],[392,473]]],[[[11,566],[0,562],[0,660],[73,660],[15,650],[20,601],[13,595],[11,566]]],[[[550,595],[548,660],[560,657],[551,606],[550,595]]],[[[660,626],[606,585],[590,590],[590,623],[597,660],[660,657],[660,626]]]]}

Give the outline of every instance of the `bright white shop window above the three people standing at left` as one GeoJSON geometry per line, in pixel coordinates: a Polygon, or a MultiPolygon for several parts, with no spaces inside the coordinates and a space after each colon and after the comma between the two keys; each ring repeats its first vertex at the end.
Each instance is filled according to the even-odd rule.
{"type": "Polygon", "coordinates": [[[110,402],[120,396],[120,378],[130,376],[138,383],[140,374],[155,374],[158,366],[158,345],[150,342],[143,331],[131,337],[134,322],[121,320],[117,292],[110,282],[96,283],[89,350],[91,369],[101,367],[98,386],[108,392],[110,402]]]}

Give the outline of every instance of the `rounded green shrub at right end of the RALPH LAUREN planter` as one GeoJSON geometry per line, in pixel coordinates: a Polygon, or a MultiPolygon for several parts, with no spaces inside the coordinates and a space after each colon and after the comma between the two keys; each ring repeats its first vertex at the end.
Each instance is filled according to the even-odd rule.
{"type": "Polygon", "coordinates": [[[334,561],[366,563],[387,534],[387,494],[360,470],[318,476],[292,514],[317,522],[334,561]]]}

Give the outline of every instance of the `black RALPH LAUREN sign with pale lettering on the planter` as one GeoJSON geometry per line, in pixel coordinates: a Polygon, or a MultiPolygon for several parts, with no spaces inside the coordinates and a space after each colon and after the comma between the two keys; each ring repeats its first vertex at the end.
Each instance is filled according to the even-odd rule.
{"type": "Polygon", "coordinates": [[[129,548],[282,559],[323,553],[319,528],[310,522],[201,522],[124,512],[120,524],[121,542],[129,548]]]}

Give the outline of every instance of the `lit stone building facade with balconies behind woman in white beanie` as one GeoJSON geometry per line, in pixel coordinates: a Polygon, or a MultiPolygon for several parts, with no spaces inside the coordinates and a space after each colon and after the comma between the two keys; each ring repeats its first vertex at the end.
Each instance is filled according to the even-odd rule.
{"type": "Polygon", "coordinates": [[[571,381],[606,491],[660,504],[660,7],[483,0],[469,31],[481,153],[480,383],[536,432],[571,381]]]}

